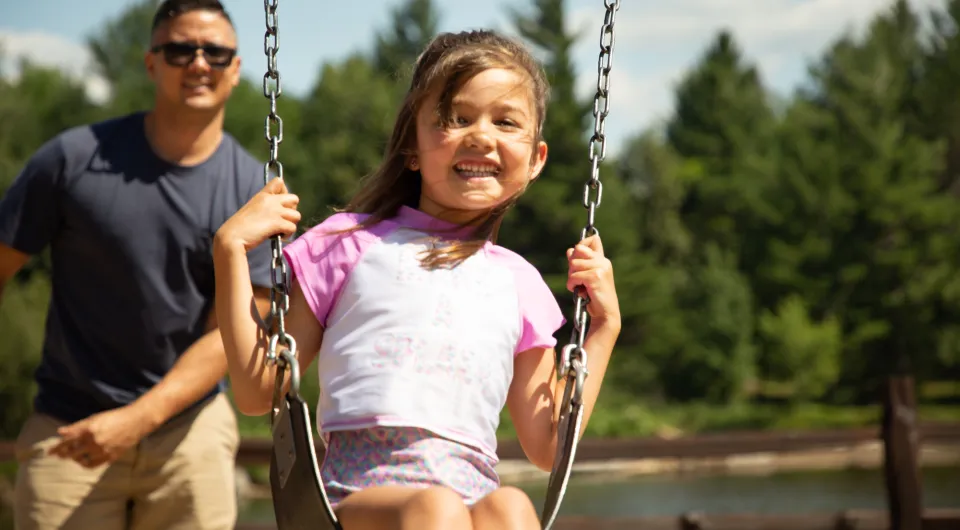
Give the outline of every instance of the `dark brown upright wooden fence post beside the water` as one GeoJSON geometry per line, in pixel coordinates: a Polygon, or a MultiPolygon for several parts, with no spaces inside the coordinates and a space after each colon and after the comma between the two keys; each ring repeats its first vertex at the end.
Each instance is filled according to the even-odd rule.
{"type": "Polygon", "coordinates": [[[919,447],[913,378],[891,377],[883,407],[883,468],[890,530],[921,530],[919,447]]]}

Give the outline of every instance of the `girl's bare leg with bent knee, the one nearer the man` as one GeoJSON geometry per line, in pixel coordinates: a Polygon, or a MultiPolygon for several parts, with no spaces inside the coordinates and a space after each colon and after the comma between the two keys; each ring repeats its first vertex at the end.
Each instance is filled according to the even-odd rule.
{"type": "Polygon", "coordinates": [[[470,512],[453,490],[377,486],[351,493],[335,510],[349,530],[472,530],[470,512]]]}

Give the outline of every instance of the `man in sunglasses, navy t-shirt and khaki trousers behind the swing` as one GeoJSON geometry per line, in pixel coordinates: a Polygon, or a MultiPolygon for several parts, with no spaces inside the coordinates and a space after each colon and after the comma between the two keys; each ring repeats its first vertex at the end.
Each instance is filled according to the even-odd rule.
{"type": "MultiPolygon", "coordinates": [[[[150,37],[153,108],[61,133],[0,199],[0,293],[31,255],[53,262],[19,530],[236,523],[211,241],[263,166],[223,132],[240,59],[220,2],[167,0],[150,37]]],[[[262,314],[269,247],[250,265],[262,314]]]]}

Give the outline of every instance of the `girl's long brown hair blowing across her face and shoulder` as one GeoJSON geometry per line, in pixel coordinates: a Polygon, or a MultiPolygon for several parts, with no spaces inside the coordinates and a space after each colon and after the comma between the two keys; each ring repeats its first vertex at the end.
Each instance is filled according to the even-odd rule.
{"type": "MultiPolygon", "coordinates": [[[[440,123],[449,126],[454,119],[453,97],[471,78],[491,68],[519,70],[528,76],[537,113],[534,146],[543,139],[549,88],[543,70],[530,52],[522,44],[489,30],[440,34],[417,59],[383,162],[363,179],[359,192],[341,210],[369,214],[354,229],[389,219],[401,206],[419,206],[420,172],[409,169],[408,162],[415,154],[417,115],[424,101],[433,90],[439,90],[436,112],[440,123]]],[[[536,152],[534,149],[534,157],[536,152]]],[[[523,191],[466,223],[464,226],[474,227],[471,237],[428,250],[423,266],[452,267],[477,252],[486,241],[495,241],[504,215],[523,191]]]]}

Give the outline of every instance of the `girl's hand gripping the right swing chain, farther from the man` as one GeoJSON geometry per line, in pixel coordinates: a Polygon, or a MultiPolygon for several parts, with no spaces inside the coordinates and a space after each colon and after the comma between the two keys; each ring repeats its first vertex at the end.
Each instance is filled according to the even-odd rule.
{"type": "Polygon", "coordinates": [[[613,264],[603,254],[600,236],[592,235],[567,249],[567,262],[567,289],[573,292],[578,285],[586,289],[590,319],[598,325],[615,324],[619,328],[620,302],[613,283],[613,264]]]}

